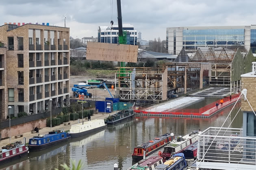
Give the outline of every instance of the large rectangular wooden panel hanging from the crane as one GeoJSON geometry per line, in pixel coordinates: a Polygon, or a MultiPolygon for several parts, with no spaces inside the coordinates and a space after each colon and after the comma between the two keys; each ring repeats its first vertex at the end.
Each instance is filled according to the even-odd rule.
{"type": "Polygon", "coordinates": [[[137,62],[137,45],[117,45],[110,43],[87,43],[86,60],[113,62],[137,62]]]}

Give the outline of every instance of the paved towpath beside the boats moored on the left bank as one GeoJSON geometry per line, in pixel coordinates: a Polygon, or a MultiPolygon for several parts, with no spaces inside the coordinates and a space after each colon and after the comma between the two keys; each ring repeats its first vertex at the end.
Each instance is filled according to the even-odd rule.
{"type": "MultiPolygon", "coordinates": [[[[104,113],[98,113],[98,114],[95,114],[93,116],[91,116],[91,120],[93,119],[104,119],[106,117],[108,117],[109,115],[113,115],[115,114],[115,112],[112,112],[112,113],[106,113],[106,115],[104,115],[104,113]]],[[[80,119],[80,122],[82,121],[82,119],[80,119]]],[[[87,121],[84,119],[84,121],[87,121]]],[[[70,125],[66,125],[64,126],[64,124],[62,123],[61,125],[59,126],[54,126],[52,127],[52,130],[57,130],[57,129],[63,129],[64,131],[66,130],[69,130],[71,125],[74,125],[76,123],[78,123],[78,120],[75,120],[75,121],[69,121],[70,122],[70,125]]],[[[50,132],[50,127],[43,127],[43,129],[39,130],[39,134],[48,134],[48,132],[50,132]]],[[[16,142],[16,141],[22,141],[22,143],[24,142],[24,138],[26,138],[26,143],[28,143],[29,141],[29,138],[32,138],[33,136],[37,136],[38,134],[35,133],[35,134],[31,134],[31,132],[26,132],[26,133],[23,133],[23,138],[17,138],[15,139],[14,136],[11,136],[11,142],[16,142]]],[[[0,147],[2,146],[5,146],[6,144],[9,144],[9,138],[8,139],[5,139],[5,140],[1,140],[0,141],[0,147]]]]}

